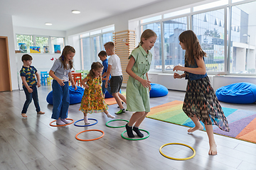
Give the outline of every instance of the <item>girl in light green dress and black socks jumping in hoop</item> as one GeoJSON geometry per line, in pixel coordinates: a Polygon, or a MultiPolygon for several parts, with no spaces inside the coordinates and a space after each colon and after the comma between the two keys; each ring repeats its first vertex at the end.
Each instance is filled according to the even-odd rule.
{"type": "Polygon", "coordinates": [[[150,111],[149,91],[151,85],[148,77],[152,54],[149,52],[156,42],[156,33],[153,30],[144,30],[137,48],[129,56],[126,72],[129,74],[127,81],[127,109],[135,112],[125,126],[128,137],[134,137],[132,130],[139,137],[143,137],[139,131],[146,114],[150,111]],[[135,123],[134,127],[132,125],[135,123]]]}

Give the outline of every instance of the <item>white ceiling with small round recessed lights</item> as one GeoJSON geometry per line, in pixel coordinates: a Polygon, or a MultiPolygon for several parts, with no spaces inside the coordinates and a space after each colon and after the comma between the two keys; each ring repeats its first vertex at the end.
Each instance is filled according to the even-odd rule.
{"type": "Polygon", "coordinates": [[[159,1],[162,0],[0,0],[0,13],[13,16],[14,26],[69,30],[159,1]],[[72,10],[81,13],[73,14],[72,10]]]}

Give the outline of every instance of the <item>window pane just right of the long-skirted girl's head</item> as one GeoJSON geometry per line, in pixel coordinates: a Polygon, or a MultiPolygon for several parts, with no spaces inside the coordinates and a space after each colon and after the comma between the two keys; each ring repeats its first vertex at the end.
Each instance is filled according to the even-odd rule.
{"type": "Polygon", "coordinates": [[[225,71],[224,9],[192,16],[192,30],[196,33],[205,57],[208,72],[225,71]]]}

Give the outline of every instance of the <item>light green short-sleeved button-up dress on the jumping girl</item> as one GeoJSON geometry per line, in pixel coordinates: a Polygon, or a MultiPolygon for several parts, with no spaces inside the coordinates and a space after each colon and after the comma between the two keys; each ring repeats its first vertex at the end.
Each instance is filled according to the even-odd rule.
{"type": "MultiPolygon", "coordinates": [[[[134,66],[132,67],[132,72],[137,74],[137,77],[146,79],[146,72],[149,72],[152,54],[151,52],[146,53],[142,46],[139,45],[136,49],[132,51],[129,59],[134,57],[134,66]]],[[[149,112],[149,88],[144,88],[142,84],[129,76],[127,81],[127,109],[132,112],[149,112]]]]}

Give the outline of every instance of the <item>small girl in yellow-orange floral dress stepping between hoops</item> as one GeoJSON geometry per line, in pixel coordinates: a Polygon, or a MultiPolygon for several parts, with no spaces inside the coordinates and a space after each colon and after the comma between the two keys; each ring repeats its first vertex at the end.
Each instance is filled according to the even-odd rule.
{"type": "Polygon", "coordinates": [[[93,62],[90,73],[82,80],[82,86],[85,87],[85,92],[82,96],[81,106],[79,111],[84,113],[85,125],[90,124],[87,118],[87,113],[104,112],[107,118],[115,118],[107,111],[107,103],[102,94],[102,69],[103,65],[100,62],[93,62]],[[86,84],[85,84],[86,83],[86,84]]]}

